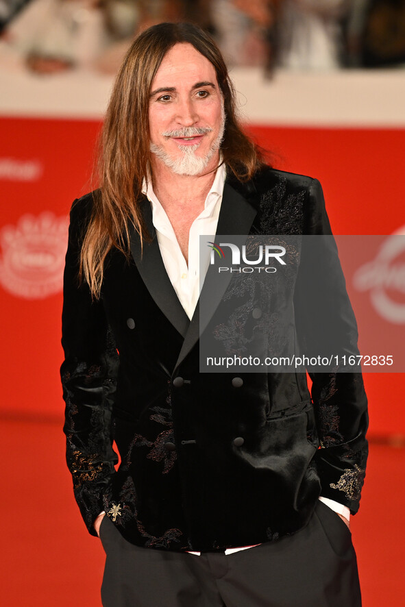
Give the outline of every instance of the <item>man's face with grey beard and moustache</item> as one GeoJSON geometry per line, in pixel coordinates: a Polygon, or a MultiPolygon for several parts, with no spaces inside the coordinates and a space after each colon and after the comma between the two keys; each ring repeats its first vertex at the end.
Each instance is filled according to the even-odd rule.
{"type": "Polygon", "coordinates": [[[217,166],[223,137],[223,98],[214,66],[190,44],[165,55],[152,82],[149,135],[152,162],[179,175],[217,166]]]}

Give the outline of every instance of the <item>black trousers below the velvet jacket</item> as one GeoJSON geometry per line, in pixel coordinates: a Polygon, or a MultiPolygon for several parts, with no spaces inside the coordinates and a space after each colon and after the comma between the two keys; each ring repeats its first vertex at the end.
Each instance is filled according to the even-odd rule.
{"type": "Polygon", "coordinates": [[[104,517],[103,607],[360,607],[352,536],[321,501],[296,534],[233,554],[141,548],[104,517]]]}

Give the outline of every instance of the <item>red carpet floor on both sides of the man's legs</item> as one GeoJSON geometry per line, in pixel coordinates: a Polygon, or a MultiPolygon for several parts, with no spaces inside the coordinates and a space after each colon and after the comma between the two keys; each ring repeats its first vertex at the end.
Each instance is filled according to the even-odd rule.
{"type": "MultiPolygon", "coordinates": [[[[62,421],[0,423],[2,604],[100,607],[103,550],[73,501],[62,421]]],[[[404,469],[404,447],[371,443],[362,505],[352,519],[364,607],[405,602],[404,469]]]]}

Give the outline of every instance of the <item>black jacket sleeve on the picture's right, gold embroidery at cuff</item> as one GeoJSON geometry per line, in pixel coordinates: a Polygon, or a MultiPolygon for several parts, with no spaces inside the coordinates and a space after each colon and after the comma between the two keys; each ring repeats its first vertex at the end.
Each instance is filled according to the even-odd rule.
{"type": "MultiPolygon", "coordinates": [[[[358,354],[357,323],[347,295],[336,243],[330,230],[321,185],[312,179],[306,208],[301,280],[304,347],[314,356],[339,355],[336,367],[309,371],[320,447],[315,454],[321,495],[359,507],[365,478],[367,397],[360,372],[345,370],[343,355],[358,354]],[[322,236],[325,235],[325,236],[322,236]],[[312,239],[312,241],[311,241],[312,239]],[[305,252],[306,251],[306,252],[305,252]]],[[[356,371],[356,369],[355,369],[356,371]]]]}

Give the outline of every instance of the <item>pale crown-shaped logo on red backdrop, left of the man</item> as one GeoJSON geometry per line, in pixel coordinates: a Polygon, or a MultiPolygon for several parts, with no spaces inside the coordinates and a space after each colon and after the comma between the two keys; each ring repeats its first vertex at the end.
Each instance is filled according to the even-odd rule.
{"type": "Polygon", "coordinates": [[[0,230],[0,282],[9,293],[43,299],[62,290],[69,218],[23,215],[0,230]]]}

